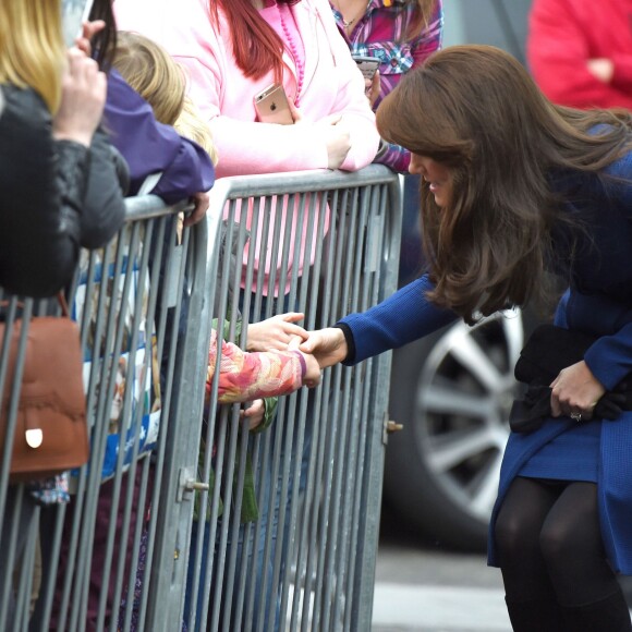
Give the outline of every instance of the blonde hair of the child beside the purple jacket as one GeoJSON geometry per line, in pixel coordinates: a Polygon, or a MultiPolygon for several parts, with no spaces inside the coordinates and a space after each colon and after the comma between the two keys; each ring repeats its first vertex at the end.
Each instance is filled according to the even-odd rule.
{"type": "Polygon", "coordinates": [[[151,106],[158,121],[196,142],[217,163],[210,127],[185,95],[184,71],[162,46],[139,33],[120,31],[112,65],[151,106]]]}

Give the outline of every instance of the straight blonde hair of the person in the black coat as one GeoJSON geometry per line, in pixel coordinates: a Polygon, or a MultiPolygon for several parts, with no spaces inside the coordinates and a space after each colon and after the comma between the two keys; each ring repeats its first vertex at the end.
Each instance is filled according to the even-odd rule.
{"type": "Polygon", "coordinates": [[[33,88],[54,114],[65,56],[60,0],[0,1],[0,83],[33,88]]]}

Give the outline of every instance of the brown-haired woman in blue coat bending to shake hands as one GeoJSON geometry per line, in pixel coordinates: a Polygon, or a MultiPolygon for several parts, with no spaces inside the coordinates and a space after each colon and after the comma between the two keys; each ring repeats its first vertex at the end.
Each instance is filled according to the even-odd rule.
{"type": "Polygon", "coordinates": [[[542,425],[510,435],[489,563],[516,631],[629,631],[616,573],[632,574],[632,412],[623,396],[617,418],[594,411],[632,370],[632,114],[555,106],[509,54],[462,46],[406,75],[377,122],[422,175],[428,272],[302,350],[355,364],[556,299],[561,279],[554,323],[593,342],[545,385],[542,425]]]}

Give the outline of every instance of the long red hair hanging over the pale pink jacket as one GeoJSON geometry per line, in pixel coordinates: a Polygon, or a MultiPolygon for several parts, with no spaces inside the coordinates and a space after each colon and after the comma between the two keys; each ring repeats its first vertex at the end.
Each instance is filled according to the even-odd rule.
{"type": "MultiPolygon", "coordinates": [[[[296,4],[301,0],[277,0],[278,4],[296,4]]],[[[259,15],[252,0],[209,0],[219,26],[218,7],[228,19],[233,54],[247,77],[259,78],[274,71],[275,81],[283,74],[283,41],[259,15]]]]}

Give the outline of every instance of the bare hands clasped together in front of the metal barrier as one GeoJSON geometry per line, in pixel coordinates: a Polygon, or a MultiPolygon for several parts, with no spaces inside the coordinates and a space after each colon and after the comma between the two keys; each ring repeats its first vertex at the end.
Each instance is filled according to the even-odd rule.
{"type": "Polygon", "coordinates": [[[347,358],[348,347],[342,329],[307,331],[296,325],[304,317],[289,312],[248,325],[246,351],[296,351],[305,361],[303,386],[314,388],[320,384],[324,368],[347,358]]]}

